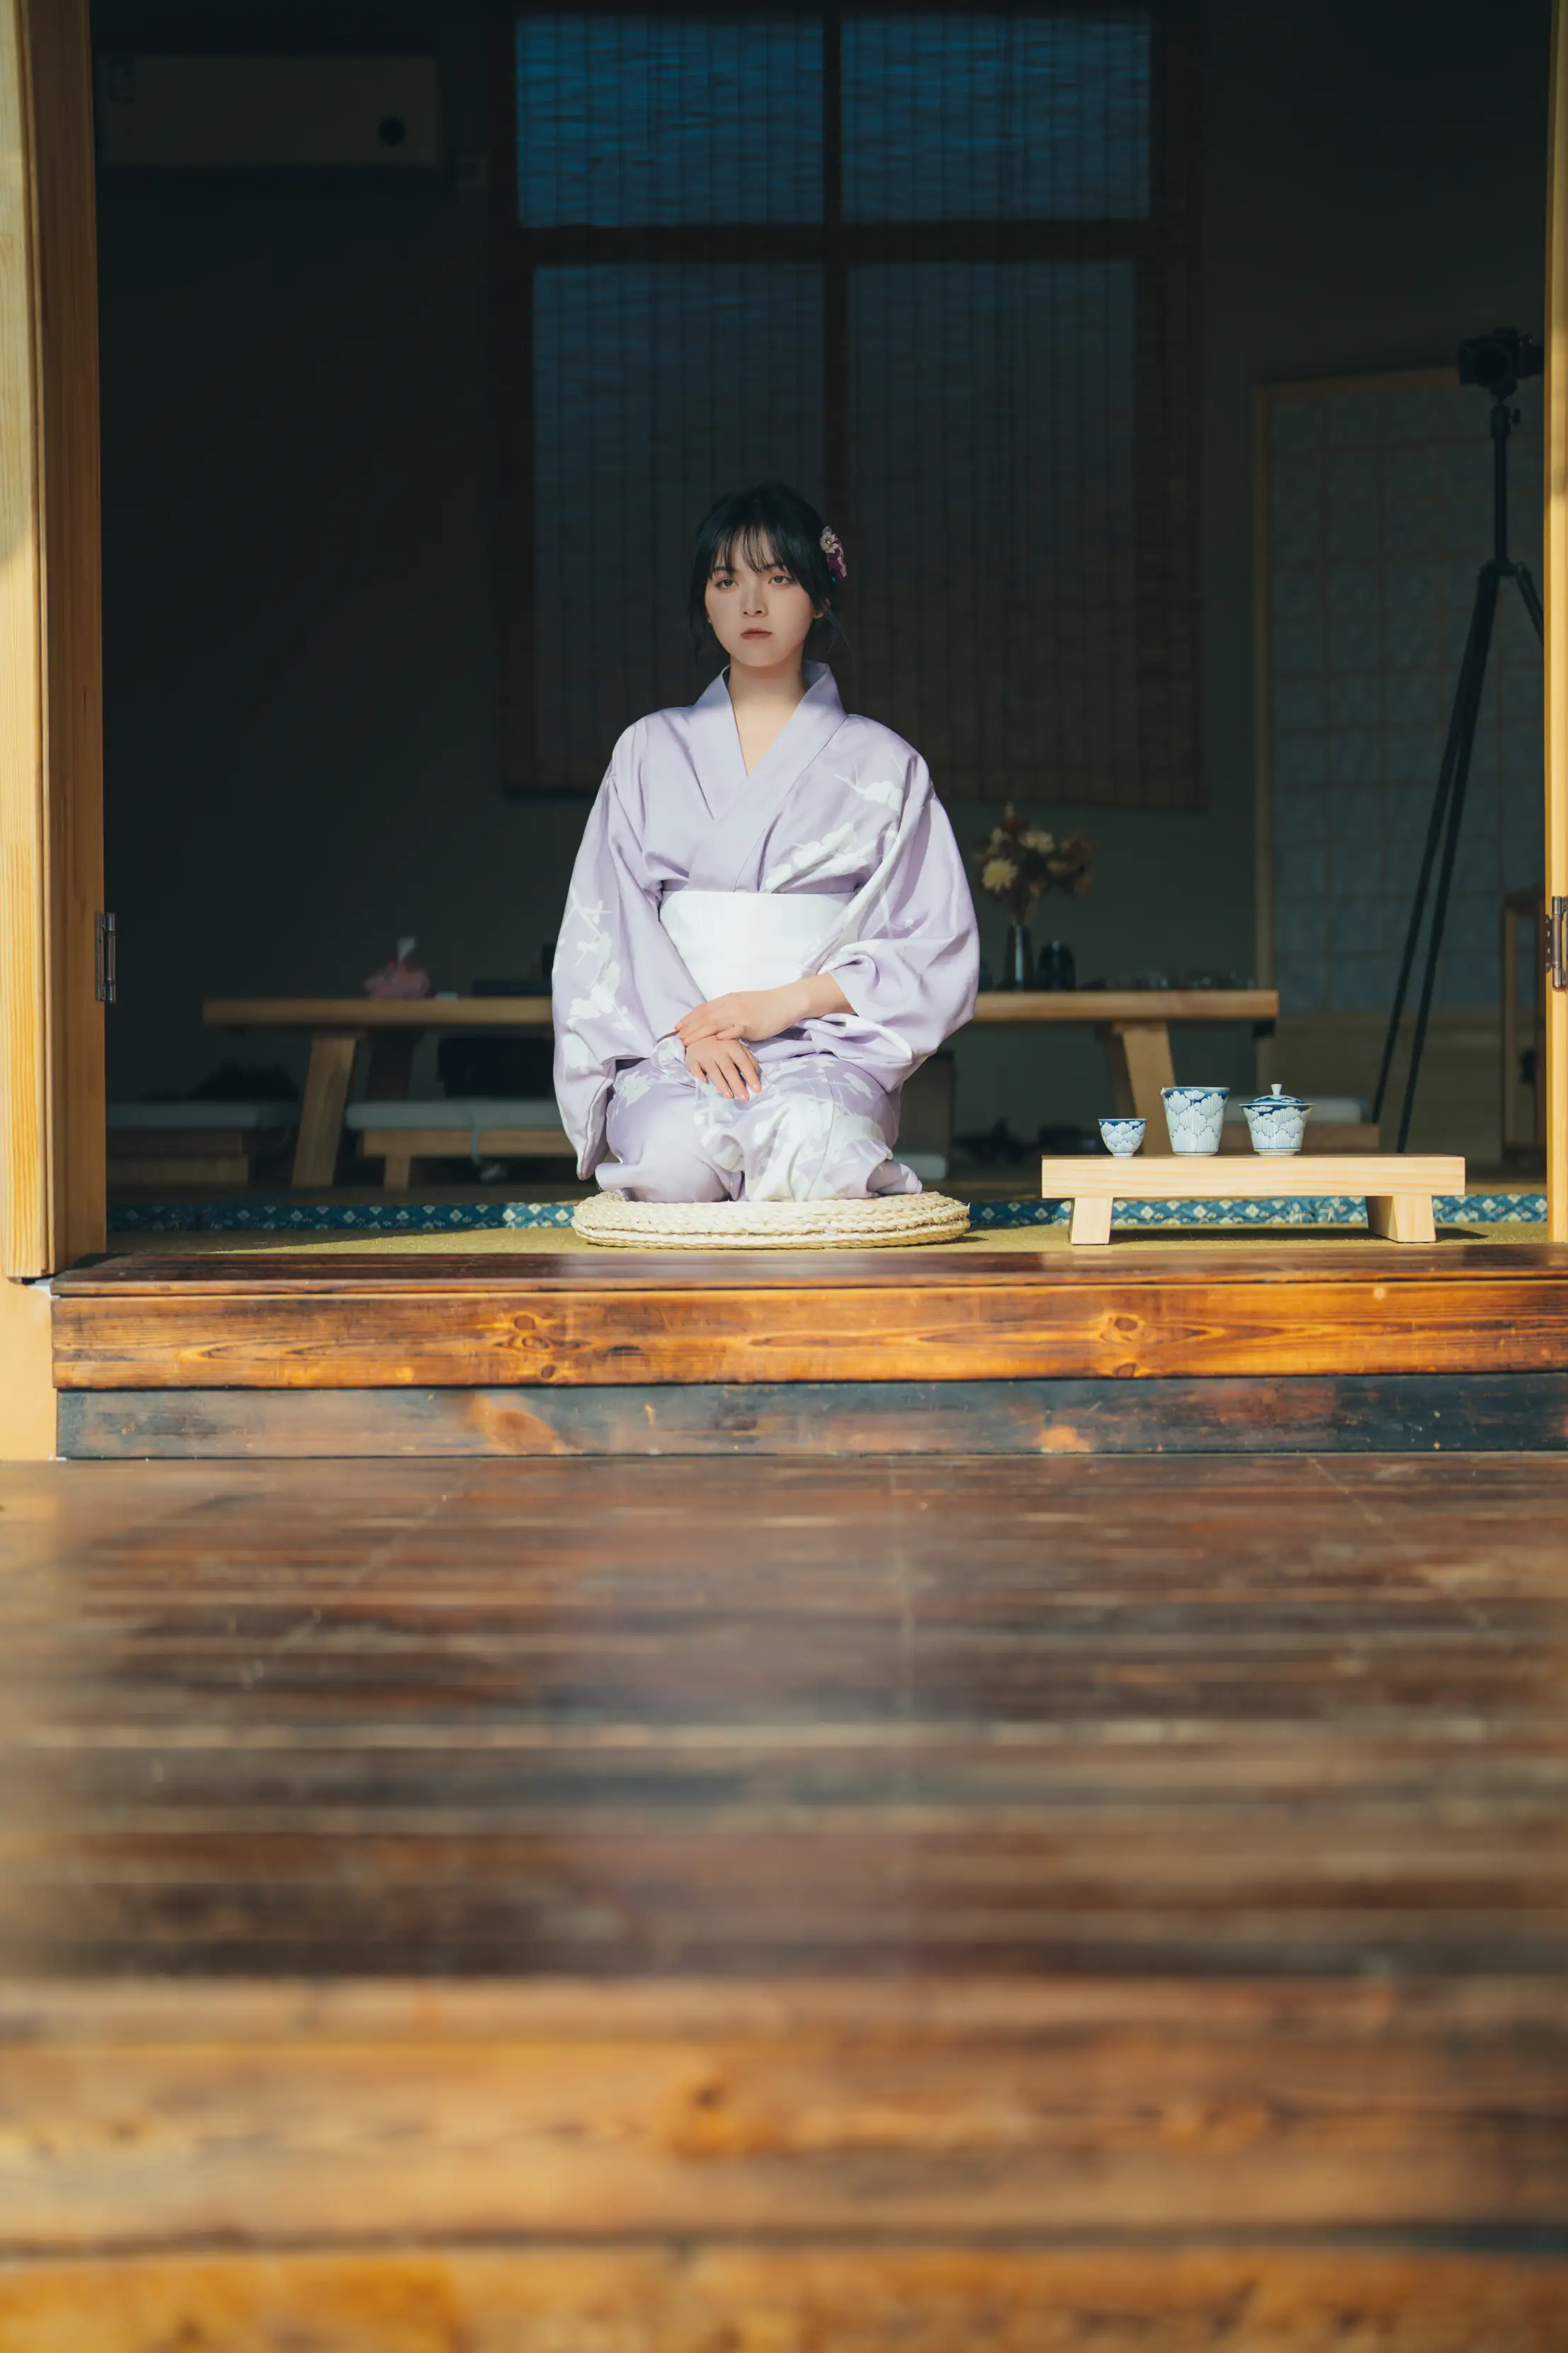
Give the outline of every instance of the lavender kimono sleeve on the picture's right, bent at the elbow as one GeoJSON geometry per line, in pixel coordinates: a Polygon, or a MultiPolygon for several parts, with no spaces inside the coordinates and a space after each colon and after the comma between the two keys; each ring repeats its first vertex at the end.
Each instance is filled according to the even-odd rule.
{"type": "Polygon", "coordinates": [[[900,1087],[976,1009],[980,934],[969,875],[917,753],[898,826],[820,969],[851,1012],[813,1021],[816,1042],[884,1087],[900,1087]]]}

